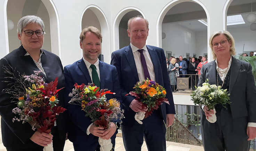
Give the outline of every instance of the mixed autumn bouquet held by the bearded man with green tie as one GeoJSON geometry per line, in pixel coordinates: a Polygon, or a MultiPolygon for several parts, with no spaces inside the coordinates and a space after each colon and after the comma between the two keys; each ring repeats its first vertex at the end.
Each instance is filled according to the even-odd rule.
{"type": "MultiPolygon", "coordinates": [[[[96,126],[104,127],[104,130],[110,127],[113,119],[122,119],[123,110],[120,108],[120,103],[116,99],[106,100],[105,94],[115,94],[114,92],[107,91],[107,89],[99,90],[99,87],[94,86],[93,83],[88,83],[86,86],[82,83],[80,86],[75,83],[75,88],[69,94],[72,99],[70,104],[80,105],[82,110],[86,112],[85,116],[91,118],[96,126]]],[[[112,150],[111,139],[103,140],[99,138],[101,151],[112,150]]]]}

